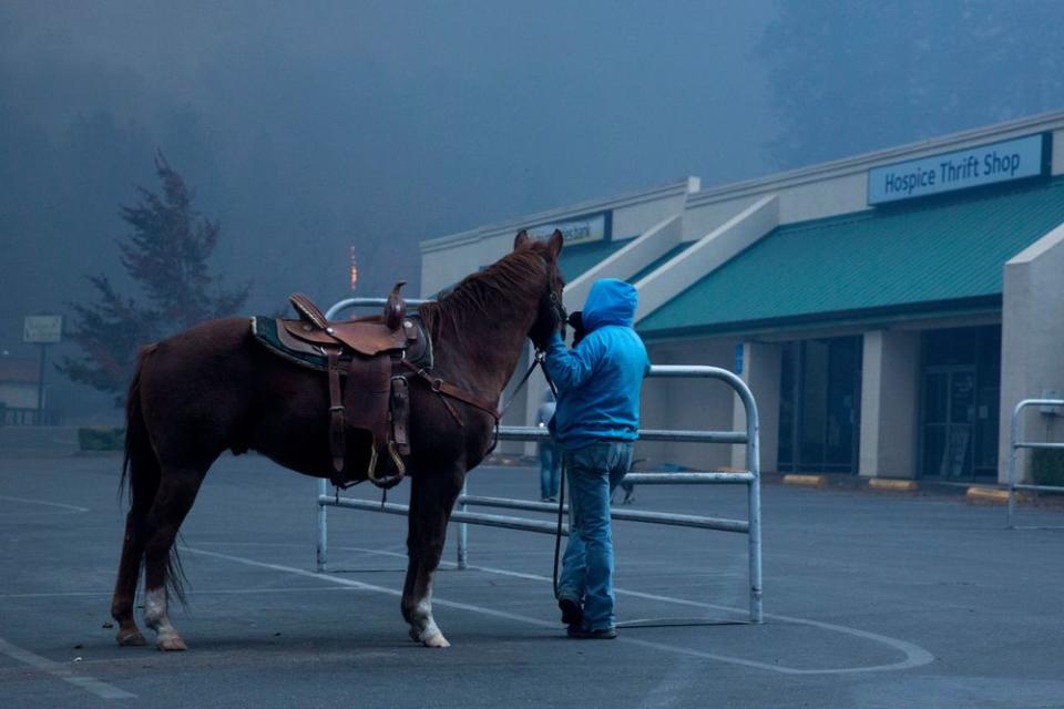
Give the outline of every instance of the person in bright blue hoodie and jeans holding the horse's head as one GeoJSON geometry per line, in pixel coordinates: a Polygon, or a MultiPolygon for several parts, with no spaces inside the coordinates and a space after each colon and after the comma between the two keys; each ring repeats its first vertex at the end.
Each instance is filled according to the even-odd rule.
{"type": "Polygon", "coordinates": [[[573,314],[574,347],[559,333],[543,366],[557,388],[551,429],[563,449],[570,534],[557,582],[567,635],[615,638],[610,496],[632,463],[640,428],[640,390],[649,370],[632,328],[638,294],[623,280],[595,281],[583,311],[573,314]]]}

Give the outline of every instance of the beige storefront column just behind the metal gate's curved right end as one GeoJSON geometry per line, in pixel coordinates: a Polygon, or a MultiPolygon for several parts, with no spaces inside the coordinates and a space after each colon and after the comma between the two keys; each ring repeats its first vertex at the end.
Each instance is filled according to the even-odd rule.
{"type": "MultiPolygon", "coordinates": [[[[743,343],[743,371],[739,377],[754,393],[760,425],[761,470],[776,472],[779,454],[779,379],[782,347],[767,342],[743,343]]],[[[738,395],[733,405],[735,431],[746,430],[746,410],[738,395]]],[[[732,446],[732,466],[746,467],[746,448],[732,446]]]]}

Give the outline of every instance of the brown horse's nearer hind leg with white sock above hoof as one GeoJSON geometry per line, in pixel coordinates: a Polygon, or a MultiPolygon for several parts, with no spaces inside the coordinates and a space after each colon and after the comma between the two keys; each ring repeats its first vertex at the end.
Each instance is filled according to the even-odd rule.
{"type": "Polygon", "coordinates": [[[155,502],[147,515],[144,547],[144,623],[156,633],[161,650],[187,649],[166,614],[167,586],[181,594],[181,569],[174,540],[192,508],[206,469],[164,467],[155,502]]]}

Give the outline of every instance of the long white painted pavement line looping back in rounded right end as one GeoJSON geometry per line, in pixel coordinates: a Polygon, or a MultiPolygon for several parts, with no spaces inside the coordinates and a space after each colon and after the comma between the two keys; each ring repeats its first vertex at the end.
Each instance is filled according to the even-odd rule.
{"type": "MultiPolygon", "coordinates": [[[[396,553],[396,552],[380,552],[380,551],[376,551],[376,549],[361,549],[361,548],[359,548],[359,547],[347,547],[347,548],[349,548],[349,549],[351,549],[351,551],[368,552],[368,553],[381,554],[381,555],[386,555],[386,556],[391,556],[391,555],[398,556],[398,555],[399,555],[399,554],[396,553]]],[[[386,595],[395,596],[395,597],[400,597],[400,596],[402,595],[402,593],[401,593],[400,590],[395,589],[395,588],[387,588],[387,587],[385,587],[385,586],[376,586],[376,585],[374,585],[374,584],[367,584],[367,583],[359,582],[359,580],[354,580],[354,579],[350,579],[350,578],[342,578],[342,577],[340,577],[340,576],[335,576],[335,575],[328,574],[328,573],[317,573],[317,572],[311,572],[311,571],[308,571],[308,569],[305,569],[305,568],[296,568],[296,567],[294,567],[294,566],[285,566],[285,565],[282,565],[282,564],[270,564],[270,563],[267,563],[267,562],[259,562],[259,561],[252,559],[252,558],[247,558],[247,557],[244,557],[244,556],[235,556],[235,555],[232,555],[232,554],[222,554],[222,553],[219,553],[219,552],[208,552],[208,551],[206,551],[206,549],[197,549],[197,548],[188,547],[188,546],[182,547],[182,551],[183,551],[183,552],[188,552],[190,554],[198,554],[198,555],[207,556],[207,557],[212,557],[212,558],[218,558],[218,559],[223,559],[223,561],[235,562],[235,563],[237,563],[237,564],[243,564],[243,565],[245,565],[245,566],[253,566],[253,567],[257,567],[257,568],[268,568],[268,569],[273,569],[273,571],[277,571],[277,572],[282,572],[282,573],[286,573],[286,574],[294,574],[294,575],[297,575],[297,576],[304,576],[304,577],[307,577],[307,578],[320,578],[320,579],[326,579],[326,580],[330,580],[330,582],[332,582],[332,583],[336,583],[336,584],[339,584],[339,585],[342,585],[342,586],[348,586],[348,587],[350,587],[350,588],[359,588],[359,589],[362,589],[362,590],[372,590],[372,592],[376,592],[376,593],[381,593],[381,594],[386,594],[386,595]]],[[[519,573],[519,572],[508,572],[508,571],[505,571],[505,569],[488,569],[488,568],[485,568],[485,567],[471,567],[471,568],[474,568],[474,571],[482,571],[482,572],[485,572],[485,573],[498,573],[498,574],[500,574],[500,575],[515,576],[515,577],[534,579],[534,580],[548,580],[548,582],[551,580],[551,579],[549,579],[549,578],[546,578],[546,577],[536,576],[536,575],[534,575],[534,574],[521,574],[521,573],[519,573]]],[[[617,590],[617,589],[615,589],[615,590],[617,590]]],[[[618,593],[620,593],[620,592],[618,592],[618,593]]],[[[671,598],[671,597],[668,597],[668,596],[657,596],[657,595],[654,595],[654,594],[642,594],[642,593],[638,593],[638,592],[623,592],[623,593],[624,593],[625,595],[637,596],[637,597],[643,597],[643,598],[654,599],[654,600],[661,600],[661,602],[666,602],[666,603],[681,603],[682,605],[690,605],[690,606],[703,607],[703,608],[717,608],[717,609],[730,610],[730,612],[738,612],[738,610],[739,610],[739,609],[737,609],[737,608],[730,608],[730,607],[727,607],[727,606],[714,606],[713,604],[702,604],[702,603],[697,603],[697,602],[686,602],[686,600],[684,600],[684,599],[682,599],[682,598],[671,598]]],[[[556,621],[548,621],[548,620],[543,620],[543,619],[540,619],[540,618],[532,618],[532,617],[529,617],[529,616],[522,616],[522,615],[518,615],[518,614],[514,614],[514,613],[508,613],[508,612],[504,612],[504,610],[497,610],[497,609],[494,609],[494,608],[487,608],[487,607],[483,607],[483,606],[477,606],[477,605],[472,605],[472,604],[458,603],[458,602],[453,602],[453,600],[446,600],[446,599],[439,598],[439,597],[433,598],[433,599],[432,599],[432,603],[433,603],[433,605],[441,606],[441,607],[444,607],[444,608],[456,608],[456,609],[459,609],[459,610],[468,610],[468,612],[470,612],[470,613],[477,613],[477,614],[480,614],[480,615],[492,616],[492,617],[495,617],[495,618],[503,618],[503,619],[507,619],[507,620],[514,620],[514,621],[518,621],[518,623],[523,623],[523,624],[525,624],[525,625],[533,625],[533,626],[541,627],[541,628],[550,628],[550,629],[552,629],[552,630],[556,630],[557,627],[559,627],[556,621]]],[[[745,613],[745,609],[744,609],[743,612],[745,613]]],[[[874,640],[874,641],[877,641],[877,643],[883,643],[883,644],[886,644],[886,645],[888,645],[888,646],[890,646],[890,647],[892,647],[892,648],[896,648],[896,649],[904,653],[906,659],[902,660],[902,661],[900,661],[900,662],[893,662],[893,664],[890,664],[890,665],[858,666],[858,667],[838,667],[838,668],[826,668],[826,669],[799,669],[799,668],[787,667],[787,666],[781,666],[781,665],[769,665],[769,664],[767,664],[767,662],[758,662],[757,660],[748,660],[748,659],[744,659],[744,658],[739,658],[739,657],[733,657],[733,656],[728,656],[728,655],[717,655],[717,654],[714,654],[714,653],[703,653],[703,651],[700,651],[700,650],[695,650],[695,649],[692,649],[692,648],[678,647],[678,646],[674,646],[674,645],[666,645],[666,644],[664,644],[664,643],[652,643],[652,641],[649,641],[649,640],[641,640],[641,639],[637,639],[637,638],[630,638],[630,637],[623,637],[623,636],[622,636],[622,637],[617,638],[617,640],[621,641],[621,643],[628,644],[628,645],[637,645],[637,646],[640,646],[640,647],[645,647],[645,648],[649,648],[649,649],[663,650],[663,651],[666,651],[666,653],[672,653],[672,654],[677,654],[677,655],[686,655],[686,656],[688,656],[688,657],[697,657],[697,658],[702,658],[702,659],[716,660],[716,661],[726,662],[726,664],[729,664],[729,665],[740,665],[740,666],[744,666],[744,667],[750,667],[750,668],[755,668],[755,669],[770,670],[770,671],[780,672],[780,674],[784,674],[784,675],[841,675],[841,674],[858,674],[858,672],[873,672],[873,671],[879,671],[879,672],[881,672],[881,671],[897,671],[897,670],[903,670],[903,669],[910,669],[910,668],[913,668],[913,667],[919,667],[919,666],[921,666],[921,665],[927,665],[927,664],[929,664],[929,662],[931,662],[931,661],[934,660],[934,656],[933,656],[933,655],[931,655],[930,653],[928,653],[928,651],[924,650],[923,648],[921,648],[921,647],[919,647],[919,646],[915,646],[915,645],[912,645],[911,643],[906,643],[904,640],[898,640],[898,639],[896,639],[896,638],[889,638],[889,637],[887,637],[887,636],[877,635],[877,634],[874,634],[874,633],[867,633],[867,631],[864,631],[864,630],[858,630],[858,629],[856,629],[856,628],[847,628],[846,626],[837,626],[837,625],[833,625],[833,624],[820,623],[820,621],[817,621],[817,620],[806,620],[806,619],[804,619],[804,618],[791,618],[791,617],[789,617],[789,616],[779,616],[779,615],[771,615],[771,616],[769,616],[769,614],[766,614],[766,616],[768,616],[768,617],[774,617],[774,618],[776,618],[776,619],[778,619],[778,620],[787,620],[787,621],[791,621],[791,623],[798,623],[798,624],[802,624],[802,625],[809,625],[809,626],[814,626],[814,627],[819,627],[819,628],[823,628],[823,629],[828,629],[828,630],[836,630],[836,631],[839,631],[839,633],[845,633],[845,634],[848,634],[848,635],[855,635],[855,636],[858,636],[858,637],[862,637],[862,638],[866,638],[866,639],[869,639],[869,640],[874,640]]]]}

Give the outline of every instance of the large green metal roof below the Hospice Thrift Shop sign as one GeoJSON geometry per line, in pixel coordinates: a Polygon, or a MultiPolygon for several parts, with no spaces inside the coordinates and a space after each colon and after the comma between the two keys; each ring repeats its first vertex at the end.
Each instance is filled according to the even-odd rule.
{"type": "Polygon", "coordinates": [[[1005,261],[1064,223],[1064,178],[778,227],[641,320],[647,337],[1000,310],[1005,261]]]}

